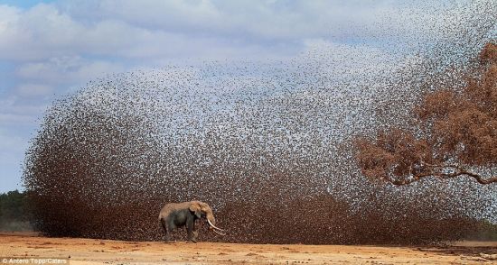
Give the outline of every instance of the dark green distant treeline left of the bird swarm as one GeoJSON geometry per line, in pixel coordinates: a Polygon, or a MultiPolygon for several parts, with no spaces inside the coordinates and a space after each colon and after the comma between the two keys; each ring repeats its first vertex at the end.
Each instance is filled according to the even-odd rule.
{"type": "Polygon", "coordinates": [[[0,231],[30,231],[26,194],[18,190],[0,194],[0,231]]]}

